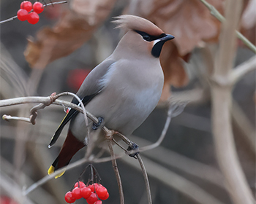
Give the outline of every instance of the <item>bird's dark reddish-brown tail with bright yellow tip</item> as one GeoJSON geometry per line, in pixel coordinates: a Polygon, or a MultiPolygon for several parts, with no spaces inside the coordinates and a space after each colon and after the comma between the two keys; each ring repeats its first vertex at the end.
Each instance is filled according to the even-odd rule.
{"type": "MultiPolygon", "coordinates": [[[[48,174],[50,175],[54,171],[63,168],[68,165],[72,157],[78,152],[79,149],[83,148],[85,144],[82,141],[79,141],[78,138],[73,136],[72,132],[69,130],[67,133],[67,138],[64,141],[64,144],[59,152],[59,156],[54,160],[53,164],[48,169],[48,174]]],[[[59,173],[55,178],[58,178],[64,174],[65,170],[59,173]]]]}

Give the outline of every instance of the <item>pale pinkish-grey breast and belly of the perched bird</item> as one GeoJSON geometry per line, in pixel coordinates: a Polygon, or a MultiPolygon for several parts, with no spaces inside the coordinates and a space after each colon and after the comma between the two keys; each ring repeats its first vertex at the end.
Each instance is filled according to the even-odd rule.
{"type": "Polygon", "coordinates": [[[159,63],[115,63],[106,76],[104,89],[86,110],[103,117],[106,127],[129,136],[157,106],[164,82],[162,68],[159,63]]]}

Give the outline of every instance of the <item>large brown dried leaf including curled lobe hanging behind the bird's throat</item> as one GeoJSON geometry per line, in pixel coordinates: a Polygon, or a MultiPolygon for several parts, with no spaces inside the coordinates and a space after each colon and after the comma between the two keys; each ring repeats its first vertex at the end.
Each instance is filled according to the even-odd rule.
{"type": "MultiPolygon", "coordinates": [[[[222,12],[223,0],[208,2],[222,12]]],[[[165,100],[170,96],[170,85],[182,87],[189,81],[181,58],[188,59],[189,53],[203,41],[217,42],[220,23],[199,0],[142,0],[134,8],[135,14],[175,36],[165,44],[160,57],[165,72],[165,100]]]]}

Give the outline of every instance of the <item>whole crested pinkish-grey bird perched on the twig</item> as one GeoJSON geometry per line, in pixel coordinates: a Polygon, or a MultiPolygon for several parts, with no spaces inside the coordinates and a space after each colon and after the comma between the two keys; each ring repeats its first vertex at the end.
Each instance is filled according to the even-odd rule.
{"type": "MultiPolygon", "coordinates": [[[[99,118],[99,123],[104,121],[110,130],[129,136],[159,102],[164,85],[159,55],[165,42],[174,36],[135,15],[120,15],[113,23],[116,23],[116,28],[124,30],[124,36],[113,53],[86,76],[76,95],[86,111],[99,118]]],[[[72,103],[79,104],[76,98],[72,103]]],[[[69,109],[49,148],[56,143],[69,121],[67,137],[48,174],[67,166],[75,153],[88,144],[87,128],[90,129],[90,138],[92,135],[104,140],[103,130],[97,130],[99,124],[89,120],[86,127],[83,114],[69,109]]]]}

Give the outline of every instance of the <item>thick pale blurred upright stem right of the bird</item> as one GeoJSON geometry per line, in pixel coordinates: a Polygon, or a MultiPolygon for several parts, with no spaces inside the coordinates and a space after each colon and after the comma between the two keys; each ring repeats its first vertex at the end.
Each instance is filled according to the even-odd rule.
{"type": "Polygon", "coordinates": [[[232,86],[228,84],[236,51],[235,31],[241,14],[241,0],[227,0],[225,3],[227,18],[222,24],[219,49],[214,64],[214,79],[222,83],[211,84],[214,142],[219,167],[225,176],[227,189],[233,203],[252,204],[255,203],[255,200],[238,161],[233,138],[230,117],[232,86]]]}

